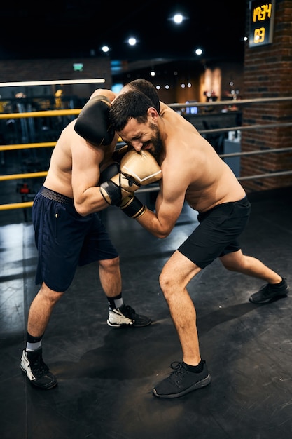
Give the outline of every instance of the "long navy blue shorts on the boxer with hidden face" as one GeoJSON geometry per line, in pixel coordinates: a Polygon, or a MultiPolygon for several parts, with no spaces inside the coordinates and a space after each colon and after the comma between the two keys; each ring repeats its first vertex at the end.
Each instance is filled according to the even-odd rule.
{"type": "Polygon", "coordinates": [[[32,222],[39,252],[36,284],[64,292],[78,265],[118,257],[97,213],[81,217],[71,198],[46,187],[34,198],[32,222]]]}

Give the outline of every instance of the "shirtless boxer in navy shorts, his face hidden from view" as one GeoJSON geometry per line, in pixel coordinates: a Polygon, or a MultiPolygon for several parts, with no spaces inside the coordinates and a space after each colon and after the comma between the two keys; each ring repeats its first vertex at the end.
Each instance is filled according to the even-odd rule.
{"type": "Polygon", "coordinates": [[[116,184],[106,185],[116,205],[120,205],[128,190],[131,194],[139,187],[132,184],[130,177],[121,177],[122,163],[123,166],[127,163],[130,175],[134,171],[140,177],[142,160],[144,184],[160,178],[161,173],[153,156],[146,152],[132,151],[130,158],[125,153],[120,165],[114,163],[118,135],[109,126],[108,113],[115,97],[111,90],[96,90],[78,118],[64,128],[53,150],[46,180],[34,198],[36,284],[41,287],[29,308],[20,367],[29,382],[39,389],[53,389],[57,385],[57,378],[43,361],[42,340],[53,309],[71,285],[78,265],[98,263],[99,281],[109,304],[106,323],[110,327],[151,324],[150,318],[136,313],[123,301],[120,258],[97,215],[109,207],[100,191],[102,180],[116,177],[116,184]],[[145,173],[146,162],[150,179],[145,173]]]}

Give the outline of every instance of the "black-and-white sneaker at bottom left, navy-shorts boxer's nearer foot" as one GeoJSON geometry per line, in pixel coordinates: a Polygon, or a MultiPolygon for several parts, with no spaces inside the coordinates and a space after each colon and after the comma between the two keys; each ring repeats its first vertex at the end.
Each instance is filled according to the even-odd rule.
{"type": "Polygon", "coordinates": [[[29,382],[40,389],[53,389],[57,386],[57,379],[43,363],[42,349],[36,351],[23,351],[20,362],[22,372],[27,374],[29,382]]]}

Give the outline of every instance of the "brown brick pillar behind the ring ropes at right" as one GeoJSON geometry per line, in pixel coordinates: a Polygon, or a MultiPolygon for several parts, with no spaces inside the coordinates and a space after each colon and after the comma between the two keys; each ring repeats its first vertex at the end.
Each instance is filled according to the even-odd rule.
{"type": "MultiPolygon", "coordinates": [[[[247,1],[248,7],[249,2],[247,1]]],[[[249,12],[248,12],[249,14],[249,12]]],[[[246,20],[248,21],[248,20],[246,20]]],[[[248,24],[246,24],[248,27],[248,24]]],[[[265,46],[245,48],[244,99],[292,97],[292,1],[276,0],[274,38],[265,46]]],[[[292,121],[292,101],[250,104],[243,109],[243,125],[292,121]]],[[[292,127],[242,132],[242,151],[292,146],[292,127]]],[[[242,157],[241,175],[260,175],[292,170],[292,153],[270,153],[242,157]]],[[[292,175],[242,181],[246,191],[286,187],[292,175]]]]}

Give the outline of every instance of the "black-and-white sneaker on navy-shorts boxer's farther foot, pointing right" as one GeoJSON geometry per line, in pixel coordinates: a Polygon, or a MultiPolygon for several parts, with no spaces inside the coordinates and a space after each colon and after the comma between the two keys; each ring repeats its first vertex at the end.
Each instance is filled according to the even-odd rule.
{"type": "Polygon", "coordinates": [[[111,327],[144,327],[150,325],[152,320],[135,313],[131,306],[123,304],[120,308],[109,311],[106,323],[111,327]]]}

